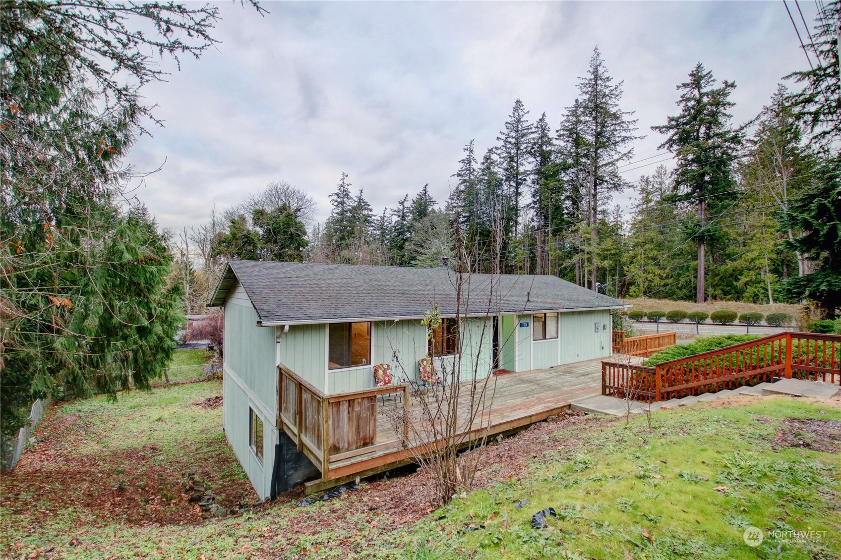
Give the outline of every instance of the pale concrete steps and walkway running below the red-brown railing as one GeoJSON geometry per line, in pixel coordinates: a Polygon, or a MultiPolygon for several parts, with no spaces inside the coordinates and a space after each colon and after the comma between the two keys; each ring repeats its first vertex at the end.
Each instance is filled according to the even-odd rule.
{"type": "MultiPolygon", "coordinates": [[[[803,381],[801,379],[778,379],[773,383],[759,383],[753,387],[743,386],[735,389],[723,389],[716,393],[706,393],[700,396],[684,397],[682,399],[669,399],[662,402],[651,403],[652,410],[675,409],[691,404],[706,403],[709,401],[725,399],[727,397],[739,396],[780,396],[808,397],[812,399],[831,399],[841,390],[837,384],[822,383],[820,381],[803,381]]],[[[642,401],[632,400],[630,412],[638,415],[648,409],[649,404],[642,401]]],[[[579,400],[570,405],[574,410],[581,410],[586,413],[604,415],[624,416],[627,415],[629,404],[626,399],[599,395],[590,399],[579,400]]]]}

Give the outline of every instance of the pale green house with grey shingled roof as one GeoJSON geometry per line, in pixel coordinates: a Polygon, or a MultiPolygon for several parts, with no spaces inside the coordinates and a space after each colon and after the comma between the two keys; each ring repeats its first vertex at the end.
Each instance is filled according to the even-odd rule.
{"type": "Polygon", "coordinates": [[[225,435],[257,494],[315,468],[278,423],[281,366],[331,395],[373,387],[381,363],[394,383],[418,381],[424,357],[450,371],[459,348],[463,379],[611,355],[619,300],[553,276],[461,278],[447,267],[228,263],[211,301],[225,309],[225,435]],[[428,333],[434,306],[442,323],[428,333]]]}

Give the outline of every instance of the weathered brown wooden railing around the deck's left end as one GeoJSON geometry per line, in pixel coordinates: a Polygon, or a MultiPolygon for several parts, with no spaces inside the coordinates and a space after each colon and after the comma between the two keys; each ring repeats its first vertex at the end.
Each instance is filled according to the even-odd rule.
{"type": "Polygon", "coordinates": [[[320,469],[322,480],[329,479],[331,462],[376,452],[386,446],[405,446],[409,439],[404,431],[402,441],[377,442],[378,395],[402,393],[404,413],[408,414],[408,384],[325,394],[288,367],[278,367],[278,378],[278,428],[320,469]]]}

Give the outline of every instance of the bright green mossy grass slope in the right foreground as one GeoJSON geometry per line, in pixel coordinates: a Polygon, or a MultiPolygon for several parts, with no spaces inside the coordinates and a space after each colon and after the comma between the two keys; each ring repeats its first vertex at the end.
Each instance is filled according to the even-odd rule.
{"type": "Polygon", "coordinates": [[[652,431],[644,418],[620,422],[548,452],[530,478],[454,500],[416,528],[416,557],[838,558],[838,420],[837,408],[779,398],[654,413],[652,431]],[[834,452],[799,446],[821,438],[786,419],[833,421],[834,452]],[[549,507],[557,516],[533,528],[549,507]],[[764,531],[759,547],[743,541],[748,526],[764,531]]]}

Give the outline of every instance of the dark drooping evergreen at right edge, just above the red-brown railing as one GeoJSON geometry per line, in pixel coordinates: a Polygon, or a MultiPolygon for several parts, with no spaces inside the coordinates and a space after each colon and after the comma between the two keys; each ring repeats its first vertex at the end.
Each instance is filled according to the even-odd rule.
{"type": "Polygon", "coordinates": [[[804,188],[783,214],[780,229],[803,235],[785,240],[813,264],[813,271],[783,281],[785,293],[812,298],[829,319],[841,312],[841,155],[822,162],[813,185],[804,188]]]}

